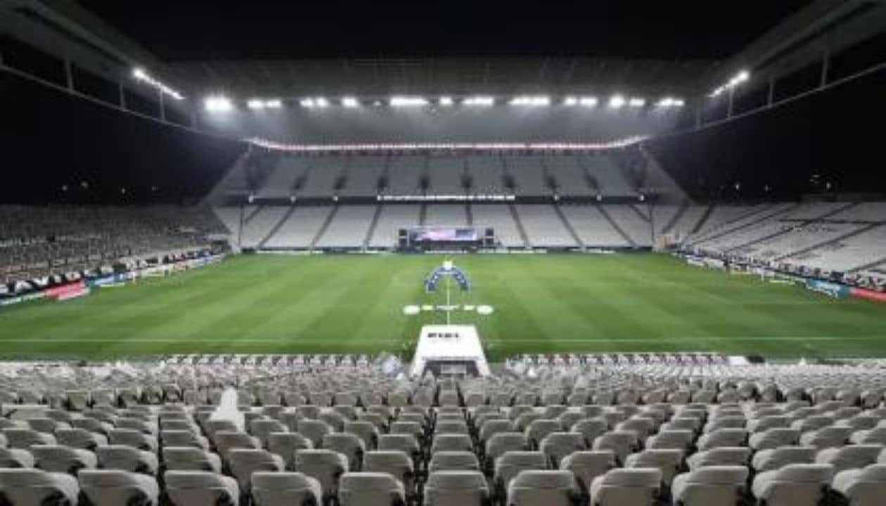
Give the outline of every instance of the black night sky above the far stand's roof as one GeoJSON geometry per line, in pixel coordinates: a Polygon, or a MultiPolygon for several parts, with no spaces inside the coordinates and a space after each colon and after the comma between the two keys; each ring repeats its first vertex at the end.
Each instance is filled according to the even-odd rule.
{"type": "Polygon", "coordinates": [[[187,2],[79,0],[168,61],[284,58],[727,58],[808,0],[187,2]]]}

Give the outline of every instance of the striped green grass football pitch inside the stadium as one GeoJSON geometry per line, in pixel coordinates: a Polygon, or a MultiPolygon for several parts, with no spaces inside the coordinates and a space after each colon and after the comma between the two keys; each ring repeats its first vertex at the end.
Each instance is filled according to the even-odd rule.
{"type": "MultiPolygon", "coordinates": [[[[393,352],[411,357],[446,314],[425,293],[437,255],[250,255],[66,302],[0,308],[0,357],[393,352]]],[[[715,351],[776,357],[886,356],[886,306],[835,300],[666,255],[457,255],[452,323],[478,326],[487,357],[715,351]]]]}

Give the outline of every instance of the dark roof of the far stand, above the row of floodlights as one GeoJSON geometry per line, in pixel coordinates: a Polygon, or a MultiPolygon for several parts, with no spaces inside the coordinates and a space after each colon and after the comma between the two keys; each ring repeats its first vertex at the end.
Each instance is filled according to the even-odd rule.
{"type": "Polygon", "coordinates": [[[686,96],[710,59],[357,58],[175,63],[200,90],[249,97],[392,94],[468,96],[608,94],[686,96]]]}

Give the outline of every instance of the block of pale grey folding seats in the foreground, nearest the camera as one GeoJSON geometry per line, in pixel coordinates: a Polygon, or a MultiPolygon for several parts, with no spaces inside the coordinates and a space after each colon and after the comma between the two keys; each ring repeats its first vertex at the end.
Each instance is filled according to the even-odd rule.
{"type": "MultiPolygon", "coordinates": [[[[564,490],[568,488],[572,492],[566,495],[574,498],[575,491],[578,490],[581,494],[584,486],[587,496],[596,503],[611,503],[607,502],[607,494],[618,497],[630,494],[630,497],[642,496],[645,499],[642,502],[629,503],[645,504],[657,496],[656,491],[660,484],[670,486],[663,490],[670,490],[674,497],[688,497],[691,494],[701,494],[692,492],[696,488],[711,488],[706,480],[722,481],[726,476],[733,477],[727,481],[734,499],[735,494],[740,492],[739,485],[743,483],[743,479],[738,477],[746,477],[751,471],[756,473],[753,492],[758,497],[765,498],[766,494],[777,494],[784,487],[795,489],[799,487],[795,481],[805,483],[803,480],[808,480],[811,475],[819,478],[809,483],[814,483],[815,488],[820,489],[822,484],[830,483],[830,477],[835,471],[865,469],[876,462],[882,453],[881,445],[859,444],[839,449],[825,448],[816,454],[812,447],[797,447],[797,450],[781,448],[782,443],[794,444],[796,440],[780,440],[773,436],[779,433],[776,431],[783,429],[781,426],[773,426],[781,425],[774,423],[773,417],[786,417],[785,414],[797,418],[794,422],[814,420],[815,416],[832,413],[832,418],[849,416],[847,420],[866,419],[864,424],[847,423],[851,427],[869,426],[874,420],[877,420],[876,425],[880,425],[882,409],[860,412],[858,407],[847,406],[843,401],[832,401],[815,407],[797,401],[778,405],[750,403],[743,406],[690,404],[675,407],[660,404],[606,408],[587,405],[578,409],[563,405],[544,408],[497,408],[485,405],[474,409],[427,409],[420,406],[392,409],[385,405],[357,409],[349,405],[327,408],[303,405],[291,410],[282,407],[244,409],[248,409],[245,411],[245,415],[249,415],[245,416],[249,419],[248,432],[240,432],[237,425],[230,420],[213,420],[212,407],[198,407],[190,411],[176,405],[162,407],[159,411],[144,406],[116,411],[105,408],[90,410],[82,415],[56,410],[49,413],[52,418],[28,419],[25,424],[32,429],[10,426],[4,433],[13,447],[30,448],[36,455],[35,463],[45,470],[70,470],[72,462],[76,463],[74,468],[78,469],[101,463],[105,467],[123,468],[120,471],[141,471],[155,476],[159,472],[159,466],[156,460],[151,461],[144,454],[152,455],[157,448],[162,448],[166,474],[168,471],[179,471],[177,468],[180,466],[208,469],[208,472],[213,473],[227,469],[237,479],[238,487],[247,491],[251,487],[253,472],[268,471],[266,468],[270,468],[270,471],[302,472],[317,480],[320,490],[327,498],[342,494],[337,476],[345,471],[393,471],[389,474],[399,481],[403,494],[411,497],[416,497],[417,487],[403,484],[408,483],[410,476],[416,475],[424,480],[425,498],[446,490],[443,486],[445,483],[460,484],[458,487],[462,488],[468,487],[467,483],[471,481],[477,484],[486,483],[476,476],[476,473],[482,476],[486,472],[485,479],[491,485],[471,488],[473,492],[479,496],[507,497],[512,503],[533,503],[522,502],[518,498],[537,497],[542,493],[541,490],[548,490],[549,487],[540,487],[539,483],[559,483],[555,488],[556,494],[560,495],[565,494],[564,490]],[[774,414],[775,411],[780,414],[774,414]],[[65,432],[69,430],[62,425],[66,422],[57,421],[56,418],[64,418],[72,425],[81,427],[90,424],[76,420],[93,419],[98,420],[99,424],[91,424],[97,431],[95,435],[82,438],[77,443],[70,438],[69,432],[65,432]],[[101,421],[102,418],[105,419],[104,422],[101,421]],[[738,418],[742,418],[744,429],[728,426],[734,422],[724,422],[738,418]],[[114,428],[109,427],[111,422],[114,428]],[[657,423],[661,425],[656,427],[657,423]],[[566,427],[569,427],[569,431],[566,427]],[[65,438],[68,443],[91,445],[97,458],[84,457],[86,454],[82,452],[85,450],[74,452],[66,451],[64,447],[46,448],[43,444],[35,444],[52,442],[53,436],[49,432],[40,435],[36,430],[41,428],[54,431],[58,438],[65,438]],[[290,428],[297,432],[286,432],[290,428]],[[750,441],[747,429],[752,432],[750,441]],[[101,445],[101,431],[105,431],[113,445],[101,445]],[[152,436],[158,431],[159,444],[157,438],[152,436]],[[205,436],[200,435],[201,433],[205,436]],[[696,439],[699,434],[700,437],[696,439]],[[763,437],[755,438],[758,435],[763,437]],[[294,451],[284,451],[279,455],[263,449],[266,445],[267,448],[276,445],[277,438],[290,440],[294,451]],[[400,446],[404,440],[409,441],[408,445],[400,446]],[[478,445],[475,441],[485,444],[478,445]],[[513,446],[509,447],[509,441],[513,446]],[[742,448],[746,441],[750,447],[742,448]],[[127,448],[127,444],[130,445],[129,456],[122,449],[127,448]],[[698,448],[698,452],[689,454],[693,447],[698,448]],[[207,448],[216,450],[218,454],[206,453],[207,448]],[[412,455],[411,462],[407,451],[391,448],[408,450],[412,455]],[[808,448],[812,448],[812,451],[808,448]],[[757,453],[753,462],[747,466],[748,457],[755,450],[757,453]],[[771,454],[765,453],[770,450],[771,454]],[[801,454],[807,457],[803,458],[801,454]],[[116,461],[113,455],[118,455],[116,461]],[[677,472],[686,455],[690,474],[678,479],[680,476],[677,472]],[[808,458],[809,455],[815,455],[814,461],[808,458]],[[291,463],[287,462],[287,456],[291,456],[291,463]],[[741,470],[696,472],[711,464],[745,467],[741,470]],[[576,471],[582,465],[586,466],[585,469],[597,471],[576,471]],[[625,469],[613,470],[613,465],[624,465],[625,469]],[[789,465],[795,467],[781,469],[789,465]],[[490,466],[491,472],[488,471],[490,466]],[[550,472],[557,471],[557,468],[562,468],[559,474],[550,472]],[[426,478],[421,478],[423,470],[426,478]],[[527,472],[525,476],[522,476],[523,471],[527,472]],[[548,472],[540,475],[535,471],[548,472]],[[562,471],[570,471],[574,482],[570,487],[565,487],[570,480],[562,471]],[[770,471],[778,472],[766,474],[770,471]],[[451,472],[462,474],[457,475],[457,479],[455,475],[439,474],[451,472]],[[469,478],[464,472],[474,473],[475,478],[469,478]],[[443,478],[439,478],[441,476],[443,478]],[[641,478],[643,476],[645,478],[641,478]],[[719,478],[715,479],[716,477],[719,478]],[[779,484],[784,487],[779,487],[779,484]],[[481,493],[482,490],[486,492],[481,493]]],[[[815,424],[806,428],[811,426],[815,424]]],[[[874,426],[867,431],[874,431],[876,428],[879,427],[874,426]]],[[[80,430],[85,431],[82,428],[80,430]]],[[[812,444],[814,441],[800,442],[812,444]]],[[[845,441],[834,440],[834,444],[843,442],[845,441]]],[[[827,446],[825,440],[818,440],[817,444],[827,446]]],[[[873,468],[859,476],[869,481],[870,476],[876,474],[875,471],[876,468],[873,468]]],[[[376,484],[380,480],[370,478],[361,476],[354,479],[360,483],[376,484]]],[[[191,482],[199,481],[193,476],[189,479],[191,482]]],[[[206,481],[206,478],[203,480],[206,481]]],[[[393,483],[390,479],[386,480],[393,483]]],[[[847,482],[847,479],[834,481],[835,484],[843,482],[847,482]]],[[[719,485],[726,487],[724,483],[719,485]]],[[[400,490],[400,487],[394,488],[400,490]]],[[[719,494],[725,492],[720,489],[719,494]]],[[[704,494],[702,496],[708,497],[704,494]]],[[[687,503],[685,499],[682,501],[687,503]]]]}

